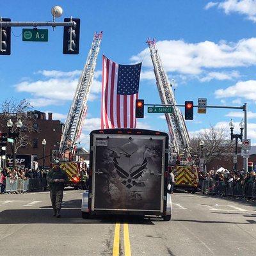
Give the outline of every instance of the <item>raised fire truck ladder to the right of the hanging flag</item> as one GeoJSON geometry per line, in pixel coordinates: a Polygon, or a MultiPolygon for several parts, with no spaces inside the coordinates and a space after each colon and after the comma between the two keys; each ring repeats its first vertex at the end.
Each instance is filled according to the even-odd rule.
{"type": "Polygon", "coordinates": [[[147,44],[150,49],[150,55],[156,76],[157,89],[161,102],[163,105],[173,105],[173,113],[164,113],[170,133],[170,141],[172,141],[172,145],[170,145],[170,152],[177,152],[178,155],[186,153],[186,157],[189,157],[190,149],[188,130],[182,113],[176,106],[177,103],[172,92],[170,81],[168,80],[161,58],[157,52],[156,41],[148,39],[147,44]]]}

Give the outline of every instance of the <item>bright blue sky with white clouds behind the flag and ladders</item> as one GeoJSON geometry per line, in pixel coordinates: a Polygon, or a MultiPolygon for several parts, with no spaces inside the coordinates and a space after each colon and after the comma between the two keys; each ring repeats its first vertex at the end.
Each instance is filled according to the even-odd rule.
{"type": "MultiPolygon", "coordinates": [[[[13,28],[12,54],[0,56],[0,101],[26,98],[40,111],[52,111],[65,122],[77,78],[84,66],[93,33],[103,31],[81,141],[100,125],[102,54],[122,64],[143,61],[140,98],[159,103],[148,37],[156,38],[176,99],[207,98],[208,104],[242,106],[248,102],[248,137],[256,143],[256,1],[8,1],[0,2],[1,16],[13,21],[52,20],[51,8],[60,5],[65,17],[81,19],[79,55],[62,54],[63,28],[49,28],[49,42],[22,42],[22,28],[13,28]]],[[[184,109],[182,109],[184,111],[184,109]]],[[[238,123],[243,111],[207,109],[186,122],[191,135],[209,127],[238,123]]],[[[139,127],[167,131],[161,115],[147,114],[139,127]]]]}

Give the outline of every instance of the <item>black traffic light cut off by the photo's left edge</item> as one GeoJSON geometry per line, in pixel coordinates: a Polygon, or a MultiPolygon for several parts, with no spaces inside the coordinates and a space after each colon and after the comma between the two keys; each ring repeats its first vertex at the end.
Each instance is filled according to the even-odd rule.
{"type": "MultiPolygon", "coordinates": [[[[11,21],[11,19],[4,19],[2,21],[11,21]]],[[[11,27],[0,28],[0,55],[11,54],[11,27]]]]}

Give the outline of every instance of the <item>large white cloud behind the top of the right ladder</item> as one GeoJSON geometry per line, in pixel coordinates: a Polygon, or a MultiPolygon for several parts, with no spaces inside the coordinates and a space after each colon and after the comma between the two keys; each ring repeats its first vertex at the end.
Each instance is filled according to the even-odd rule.
{"type": "MultiPolygon", "coordinates": [[[[163,61],[166,72],[177,72],[207,77],[209,69],[248,67],[256,65],[256,38],[242,39],[238,42],[218,43],[205,41],[190,44],[184,40],[164,40],[157,42],[157,49],[163,61]]],[[[131,57],[132,63],[143,60],[143,76],[153,77],[153,66],[148,48],[131,57]]],[[[142,77],[143,77],[142,76],[142,77]]],[[[211,70],[206,79],[232,79],[239,77],[236,70],[218,72],[211,70]]]]}

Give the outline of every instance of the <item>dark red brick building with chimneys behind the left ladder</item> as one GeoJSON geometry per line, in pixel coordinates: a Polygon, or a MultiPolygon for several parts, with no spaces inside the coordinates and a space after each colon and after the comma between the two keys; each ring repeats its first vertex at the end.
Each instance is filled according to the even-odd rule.
{"type": "MultiPolygon", "coordinates": [[[[45,139],[45,166],[50,166],[50,151],[52,149],[58,149],[58,147],[60,146],[63,123],[61,123],[60,120],[52,120],[52,113],[47,113],[47,118],[45,113],[36,110],[29,111],[27,115],[30,118],[29,120],[33,122],[33,131],[24,131],[26,135],[29,136],[29,145],[26,145],[25,147],[20,147],[17,150],[17,154],[33,155],[35,157],[35,161],[38,161],[38,166],[42,166],[42,140],[45,139]]],[[[13,124],[15,124],[15,122],[17,122],[17,117],[15,116],[15,114],[13,115],[12,119],[13,124]]],[[[0,115],[0,129],[2,132],[8,132],[6,119],[3,118],[3,114],[0,115]]],[[[8,145],[7,147],[7,154],[12,154],[10,145],[8,145]]]]}

